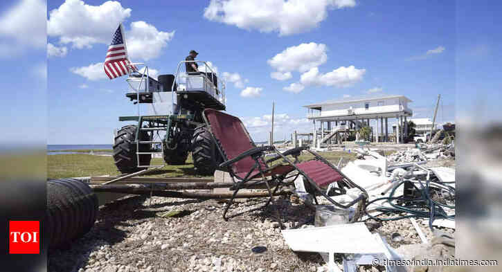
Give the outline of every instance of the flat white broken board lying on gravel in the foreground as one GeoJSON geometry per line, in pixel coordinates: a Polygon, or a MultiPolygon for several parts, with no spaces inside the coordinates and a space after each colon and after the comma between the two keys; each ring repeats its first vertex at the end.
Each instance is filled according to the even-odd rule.
{"type": "Polygon", "coordinates": [[[323,253],[384,253],[382,243],[375,240],[362,222],[319,228],[283,230],[283,237],[292,251],[323,253]]]}

